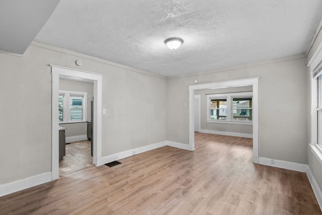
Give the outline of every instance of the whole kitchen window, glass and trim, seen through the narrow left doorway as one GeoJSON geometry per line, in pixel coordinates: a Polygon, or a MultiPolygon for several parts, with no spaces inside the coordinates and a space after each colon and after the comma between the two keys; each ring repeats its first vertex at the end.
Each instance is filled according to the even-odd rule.
{"type": "Polygon", "coordinates": [[[59,91],[59,122],[79,122],[87,119],[87,92],[59,91]]]}

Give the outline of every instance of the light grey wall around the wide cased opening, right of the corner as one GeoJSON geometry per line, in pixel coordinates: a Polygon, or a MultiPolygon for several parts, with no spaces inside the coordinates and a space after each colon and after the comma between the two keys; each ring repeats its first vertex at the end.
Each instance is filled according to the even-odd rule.
{"type": "Polygon", "coordinates": [[[303,55],[175,77],[168,82],[168,140],[189,143],[188,85],[261,77],[259,156],[307,164],[303,55]],[[304,104],[304,105],[303,105],[304,104]]]}

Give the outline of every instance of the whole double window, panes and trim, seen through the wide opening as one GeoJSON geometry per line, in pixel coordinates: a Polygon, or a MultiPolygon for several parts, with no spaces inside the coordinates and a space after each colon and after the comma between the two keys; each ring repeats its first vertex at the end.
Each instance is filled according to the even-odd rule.
{"type": "Polygon", "coordinates": [[[252,124],[252,92],[207,95],[207,122],[252,124]]]}

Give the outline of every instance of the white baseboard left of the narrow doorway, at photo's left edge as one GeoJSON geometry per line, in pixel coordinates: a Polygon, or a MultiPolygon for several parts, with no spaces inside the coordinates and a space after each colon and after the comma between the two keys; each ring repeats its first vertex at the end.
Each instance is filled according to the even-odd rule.
{"type": "Polygon", "coordinates": [[[45,172],[7,184],[0,184],[0,196],[8,195],[49,181],[51,181],[51,172],[45,172]]]}

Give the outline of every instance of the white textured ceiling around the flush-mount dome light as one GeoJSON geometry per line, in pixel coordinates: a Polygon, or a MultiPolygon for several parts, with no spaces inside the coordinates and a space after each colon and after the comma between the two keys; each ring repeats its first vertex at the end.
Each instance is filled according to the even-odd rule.
{"type": "Polygon", "coordinates": [[[305,53],[321,17],[320,0],[61,0],[35,40],[172,77],[305,53]]]}

